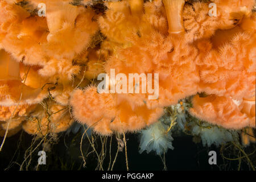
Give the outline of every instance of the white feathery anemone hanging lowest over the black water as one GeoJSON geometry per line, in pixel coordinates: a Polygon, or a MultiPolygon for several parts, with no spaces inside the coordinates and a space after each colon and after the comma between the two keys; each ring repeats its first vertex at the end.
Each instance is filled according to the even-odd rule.
{"type": "Polygon", "coordinates": [[[141,131],[141,142],[139,144],[140,150],[143,151],[155,151],[156,154],[162,155],[167,152],[168,148],[174,150],[172,146],[172,140],[170,131],[168,132],[168,126],[163,122],[157,122],[145,130],[141,131]]]}

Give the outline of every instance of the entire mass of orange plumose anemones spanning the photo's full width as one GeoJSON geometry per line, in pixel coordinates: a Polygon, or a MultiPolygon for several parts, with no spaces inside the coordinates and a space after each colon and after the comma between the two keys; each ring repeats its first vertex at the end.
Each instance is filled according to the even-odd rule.
{"type": "Polygon", "coordinates": [[[197,118],[255,127],[255,2],[213,2],[216,16],[199,1],[109,1],[97,14],[88,0],[0,0],[1,134],[57,133],[73,118],[102,135],[139,131],[188,96],[197,118]],[[98,93],[97,75],[110,69],[158,73],[158,99],[98,93]]]}

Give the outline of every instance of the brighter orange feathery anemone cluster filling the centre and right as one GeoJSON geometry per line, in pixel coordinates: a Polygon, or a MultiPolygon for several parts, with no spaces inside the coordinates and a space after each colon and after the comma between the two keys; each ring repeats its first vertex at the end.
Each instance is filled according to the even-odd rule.
{"type": "Polygon", "coordinates": [[[227,129],[255,127],[254,0],[214,3],[217,16],[209,16],[206,2],[109,2],[98,18],[101,48],[110,53],[105,72],[159,73],[159,97],[90,86],[73,93],[74,117],[104,135],[138,131],[157,122],[165,106],[195,95],[189,112],[197,118],[227,129]]]}

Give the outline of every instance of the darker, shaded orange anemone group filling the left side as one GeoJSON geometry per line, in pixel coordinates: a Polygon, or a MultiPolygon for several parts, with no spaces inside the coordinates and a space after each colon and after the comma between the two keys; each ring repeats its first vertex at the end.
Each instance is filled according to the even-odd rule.
{"type": "Polygon", "coordinates": [[[97,77],[106,57],[94,45],[97,16],[71,1],[0,1],[1,136],[21,129],[45,135],[71,126],[73,90],[97,77]]]}

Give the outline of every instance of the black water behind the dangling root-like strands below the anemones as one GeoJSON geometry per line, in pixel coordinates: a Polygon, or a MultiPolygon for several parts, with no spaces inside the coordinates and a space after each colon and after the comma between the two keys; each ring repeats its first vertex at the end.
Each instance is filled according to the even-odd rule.
{"type": "MultiPolygon", "coordinates": [[[[4,170],[9,166],[11,159],[14,162],[22,163],[24,159],[24,151],[30,146],[32,136],[22,133],[22,142],[19,144],[19,150],[16,151],[18,140],[22,132],[7,138],[3,150],[0,152],[0,170],[4,170]],[[15,154],[15,155],[14,155],[15,154]]],[[[1,142],[3,138],[0,138],[1,142]]],[[[129,161],[130,170],[156,170],[162,171],[164,168],[160,157],[154,152],[147,154],[143,152],[139,154],[139,139],[138,134],[127,134],[127,158],[129,161]]],[[[97,156],[90,154],[86,158],[86,166],[82,167],[82,158],[80,152],[81,135],[65,136],[60,134],[59,142],[53,144],[51,151],[47,151],[46,165],[40,165],[40,170],[94,170],[97,167],[97,156]],[[65,140],[65,142],[64,142],[65,140]]],[[[222,159],[217,147],[203,147],[201,143],[195,144],[192,142],[192,137],[175,137],[172,143],[174,150],[168,150],[166,154],[167,170],[236,170],[238,162],[226,162],[222,159]],[[214,150],[217,152],[217,165],[210,165],[208,163],[208,152],[214,150]]],[[[100,146],[101,147],[101,146],[100,146]]],[[[82,148],[90,148],[88,140],[84,140],[82,148]]],[[[117,151],[117,140],[113,138],[112,141],[112,160],[117,151]]],[[[97,151],[101,149],[96,146],[97,151]]],[[[31,165],[28,170],[34,170],[37,160],[39,158],[38,151],[42,150],[42,146],[36,150],[31,156],[31,165]]],[[[92,150],[92,148],[90,148],[92,150]]],[[[86,150],[83,149],[86,155],[86,150]]],[[[106,158],[104,160],[103,168],[107,169],[109,165],[109,143],[107,145],[106,158]]],[[[126,170],[125,152],[119,152],[117,162],[114,165],[114,170],[126,170]]],[[[25,168],[26,169],[26,168],[25,168]]],[[[247,164],[242,164],[241,169],[249,169],[247,164]]],[[[19,170],[19,165],[13,163],[8,170],[19,170]]]]}

